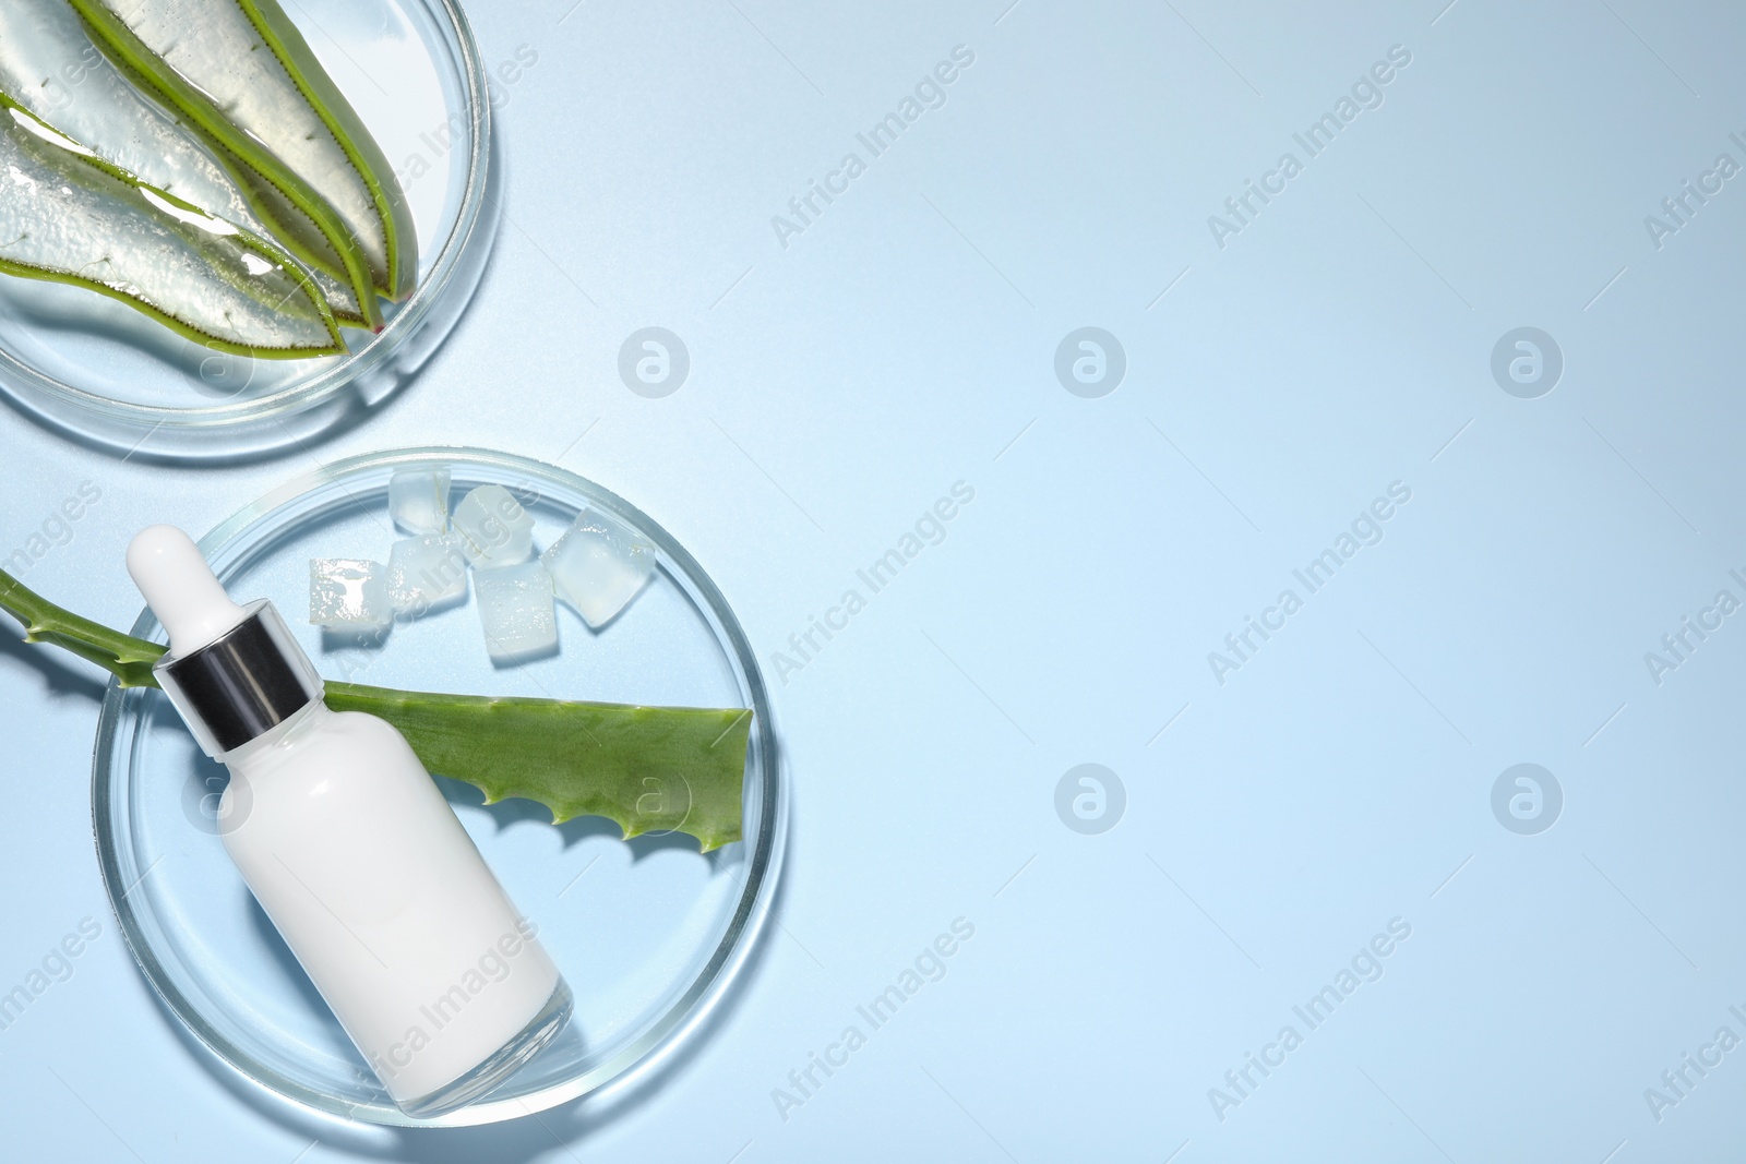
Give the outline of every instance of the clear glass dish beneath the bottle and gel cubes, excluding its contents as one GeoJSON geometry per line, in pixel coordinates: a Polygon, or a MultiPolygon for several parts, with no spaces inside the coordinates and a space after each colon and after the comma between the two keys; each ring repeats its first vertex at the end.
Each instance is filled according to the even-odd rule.
{"type": "MultiPolygon", "coordinates": [[[[468,448],[335,462],[236,513],[201,541],[237,597],[272,599],[328,679],[421,691],[648,705],[749,707],[744,839],[711,853],[683,834],[620,839],[597,817],[562,825],[533,801],[484,806],[438,780],[510,899],[574,991],[569,1028],[501,1089],[430,1120],[403,1115],[255,904],[217,834],[225,770],[199,752],[155,689],[112,686],[93,761],[98,860],[120,932],[164,1003],[220,1059],[281,1096],[353,1120],[468,1126],[636,1085],[693,1037],[744,969],[768,913],[786,834],[786,782],[756,656],[721,592],[670,534],[573,473],[468,448]],[[450,468],[454,497],[499,483],[546,546],[583,506],[658,548],[648,588],[594,633],[560,604],[555,656],[494,668],[478,611],[396,623],[381,647],[325,639],[304,618],[311,557],[382,560],[395,469],[450,468]]],[[[117,560],[117,571],[120,562],[117,560]]],[[[145,613],[133,633],[162,640],[145,613]]]]}

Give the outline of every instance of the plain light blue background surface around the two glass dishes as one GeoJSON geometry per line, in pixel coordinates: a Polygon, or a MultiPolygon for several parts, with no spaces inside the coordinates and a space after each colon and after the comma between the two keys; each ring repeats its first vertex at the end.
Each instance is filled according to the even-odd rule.
{"type": "Polygon", "coordinates": [[[115,935],[94,679],[5,646],[0,983],[105,927],[0,1033],[7,1155],[1624,1164],[1737,1143],[1746,1051],[1659,1122],[1643,1092],[1718,1026],[1746,1037],[1746,616],[1660,686],[1643,654],[1746,597],[1746,185],[1660,250],[1643,218],[1716,154],[1746,162],[1746,10],[573,2],[471,5],[487,63],[540,59],[499,110],[492,265],[409,391],[313,454],[223,469],[119,462],[7,410],[0,555],[98,483],[28,579],[124,627],[147,522],[210,529],[346,454],[498,447],[667,525],[768,667],[971,483],[943,544],[803,670],[766,670],[794,827],[749,989],[627,1103],[388,1134],[250,1101],[115,935]],[[1292,133],[1397,44],[1385,105],[1220,250],[1206,216],[1303,157],[1292,133]],[[782,248],[772,215],[953,45],[976,59],[946,105],[782,248]],[[616,375],[648,325],[691,353],[665,400],[616,375]],[[1053,372],[1086,325],[1128,358],[1100,400],[1053,372]],[[1489,372],[1523,325],[1566,361],[1538,400],[1489,372]],[[1397,480],[1381,544],[1215,682],[1206,653],[1397,480]],[[1564,791],[1538,836],[1489,805],[1524,761],[1564,791]],[[1079,763],[1126,785],[1102,836],[1055,813],[1079,763]],[[960,916],[948,976],[784,1120],[772,1089],[960,916]],[[1386,974],[1220,1120],[1208,1089],[1392,918],[1413,932],[1386,974]]]}

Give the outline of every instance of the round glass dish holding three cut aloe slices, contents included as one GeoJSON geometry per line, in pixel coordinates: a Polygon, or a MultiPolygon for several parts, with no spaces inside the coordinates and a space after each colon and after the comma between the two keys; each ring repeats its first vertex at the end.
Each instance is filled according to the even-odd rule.
{"type": "Polygon", "coordinates": [[[492,237],[456,0],[199,5],[196,35],[183,0],[0,10],[0,161],[28,180],[0,206],[0,391],[134,459],[239,459],[381,403],[492,237]]]}

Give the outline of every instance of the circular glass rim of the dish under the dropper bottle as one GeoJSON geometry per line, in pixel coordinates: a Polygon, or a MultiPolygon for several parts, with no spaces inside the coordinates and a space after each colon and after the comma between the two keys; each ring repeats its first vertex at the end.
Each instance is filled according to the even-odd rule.
{"type": "MultiPolygon", "coordinates": [[[[768,689],[739,620],[714,581],[672,534],[636,506],[583,476],[527,457],[478,448],[421,447],[365,454],[292,480],[244,506],[199,541],[201,551],[223,579],[271,553],[279,534],[292,524],[333,504],[335,490],[347,499],[356,499],[347,485],[356,483],[358,478],[379,476],[386,487],[386,475],[396,468],[438,462],[457,469],[457,478],[463,476],[459,473],[463,468],[513,475],[519,480],[562,490],[583,503],[597,503],[608,511],[629,518],[636,529],[655,541],[662,569],[679,585],[709,625],[730,661],[746,707],[754,712],[754,724],[744,791],[747,827],[746,836],[737,841],[747,846],[746,881],[733,899],[732,916],[721,928],[719,941],[709,951],[695,979],[672,998],[655,1021],[644,1024],[606,1061],[527,1092],[517,1092],[512,1077],[510,1084],[498,1094],[426,1120],[407,1117],[386,1096],[377,1103],[360,1103],[356,1098],[323,1089],[309,1078],[292,1078],[251,1056],[232,1035],[225,1033],[225,1026],[237,1026],[243,1019],[227,1021],[222,1014],[208,1014],[196,1002],[194,995],[201,991],[194,981],[194,970],[185,965],[192,951],[173,946],[173,939],[154,913],[148,894],[133,894],[152,867],[141,853],[134,818],[136,798],[140,796],[140,782],[134,780],[136,740],[143,719],[140,705],[148,689],[124,691],[113,681],[110,682],[103,696],[93,750],[93,832],[110,906],[122,939],[147,983],[189,1031],[244,1078],[318,1112],[402,1127],[464,1127],[520,1119],[608,1085],[613,1085],[615,1091],[634,1087],[653,1075],[705,1024],[744,970],[770,913],[787,836],[787,782],[780,771],[782,761],[768,689]]],[[[162,640],[162,628],[150,611],[140,614],[131,633],[155,642],[162,640]]]]}

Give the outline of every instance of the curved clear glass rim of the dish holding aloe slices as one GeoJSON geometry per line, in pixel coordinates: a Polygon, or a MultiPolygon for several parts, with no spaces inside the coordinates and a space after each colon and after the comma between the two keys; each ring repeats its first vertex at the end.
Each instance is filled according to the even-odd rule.
{"type": "MultiPolygon", "coordinates": [[[[421,248],[433,257],[421,258],[428,269],[412,295],[391,305],[382,330],[365,339],[363,332],[347,328],[354,349],[302,361],[311,365],[306,375],[246,400],[189,407],[115,400],[58,379],[3,346],[0,391],[52,428],[129,457],[223,461],[297,443],[374,407],[424,363],[477,288],[492,241],[489,223],[482,222],[491,178],[491,86],[457,0],[374,2],[421,17],[414,23],[431,65],[445,87],[463,94],[459,106],[449,110],[447,124],[459,120],[466,134],[459,197],[442,213],[440,248],[431,246],[438,239],[421,239],[421,248]],[[377,382],[384,377],[386,382],[377,382]]],[[[239,359],[248,366],[279,363],[239,359]]]]}

